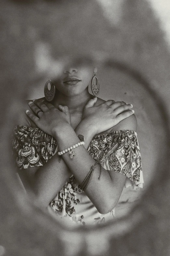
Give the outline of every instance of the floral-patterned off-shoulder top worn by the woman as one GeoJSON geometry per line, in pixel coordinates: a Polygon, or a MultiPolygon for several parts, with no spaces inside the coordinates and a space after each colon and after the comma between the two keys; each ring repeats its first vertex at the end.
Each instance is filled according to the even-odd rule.
{"type": "MultiPolygon", "coordinates": [[[[39,128],[26,126],[16,126],[12,145],[20,169],[43,166],[58,152],[54,137],[39,128]]],[[[87,151],[106,170],[125,175],[125,187],[143,187],[141,153],[135,131],[118,130],[95,136],[87,151]]],[[[82,225],[101,223],[115,217],[114,209],[107,214],[100,214],[88,196],[84,192],[79,194],[77,190],[78,182],[72,175],[50,202],[51,214],[67,217],[82,225]]]]}

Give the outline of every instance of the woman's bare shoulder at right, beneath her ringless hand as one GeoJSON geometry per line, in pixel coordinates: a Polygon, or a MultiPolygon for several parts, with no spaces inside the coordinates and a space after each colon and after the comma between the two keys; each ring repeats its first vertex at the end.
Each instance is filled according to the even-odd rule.
{"type": "MultiPolygon", "coordinates": [[[[97,98],[96,106],[102,103],[105,103],[106,100],[103,100],[101,98],[97,98]]],[[[123,119],[120,121],[117,125],[112,127],[110,131],[118,131],[118,130],[133,130],[137,131],[137,119],[135,114],[123,119]]]]}

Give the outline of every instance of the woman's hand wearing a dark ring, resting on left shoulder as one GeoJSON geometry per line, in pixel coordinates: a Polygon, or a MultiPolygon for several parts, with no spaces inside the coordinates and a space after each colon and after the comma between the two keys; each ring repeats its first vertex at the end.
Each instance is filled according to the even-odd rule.
{"type": "Polygon", "coordinates": [[[55,108],[49,102],[43,100],[30,101],[29,106],[31,111],[27,110],[28,117],[40,128],[42,131],[54,136],[59,129],[62,129],[65,124],[71,125],[70,112],[67,106],[59,105],[55,108]]]}

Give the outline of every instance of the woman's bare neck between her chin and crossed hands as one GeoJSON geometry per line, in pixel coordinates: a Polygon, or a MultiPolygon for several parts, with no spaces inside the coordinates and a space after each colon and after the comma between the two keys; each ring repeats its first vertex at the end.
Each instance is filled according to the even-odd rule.
{"type": "Polygon", "coordinates": [[[88,87],[81,94],[67,96],[59,91],[54,97],[52,104],[57,108],[58,105],[66,105],[70,113],[81,112],[87,102],[93,98],[93,95],[88,92],[88,87]]]}

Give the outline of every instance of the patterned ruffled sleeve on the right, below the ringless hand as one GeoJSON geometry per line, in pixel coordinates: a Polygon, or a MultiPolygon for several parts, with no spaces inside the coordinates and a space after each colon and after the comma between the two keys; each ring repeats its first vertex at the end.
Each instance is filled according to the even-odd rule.
{"type": "Polygon", "coordinates": [[[125,187],[143,188],[141,152],[136,132],[119,130],[96,136],[88,151],[106,170],[125,175],[125,187]]]}

